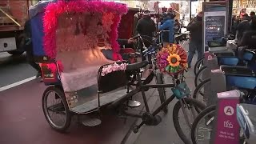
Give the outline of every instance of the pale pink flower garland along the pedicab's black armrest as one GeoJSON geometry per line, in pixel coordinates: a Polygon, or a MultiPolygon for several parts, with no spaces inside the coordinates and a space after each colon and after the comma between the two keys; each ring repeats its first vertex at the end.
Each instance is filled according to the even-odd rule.
{"type": "Polygon", "coordinates": [[[105,66],[102,68],[102,76],[105,76],[106,74],[110,74],[114,71],[126,70],[126,66],[127,66],[127,63],[122,63],[119,65],[116,62],[112,65],[105,66]]]}

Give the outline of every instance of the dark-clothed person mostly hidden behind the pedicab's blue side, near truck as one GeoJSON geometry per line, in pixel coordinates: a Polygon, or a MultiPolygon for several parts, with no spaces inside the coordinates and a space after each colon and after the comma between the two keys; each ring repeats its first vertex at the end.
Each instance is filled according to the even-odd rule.
{"type": "MultiPolygon", "coordinates": [[[[30,19],[26,21],[25,26],[24,26],[24,31],[25,31],[25,38],[26,38],[26,43],[25,43],[25,50],[26,50],[26,60],[32,66],[35,70],[37,70],[38,74],[36,75],[36,78],[41,77],[42,78],[42,72],[41,68],[34,61],[34,53],[33,53],[33,45],[31,41],[31,30],[30,30],[30,19]]],[[[42,81],[42,79],[41,79],[42,81]]]]}

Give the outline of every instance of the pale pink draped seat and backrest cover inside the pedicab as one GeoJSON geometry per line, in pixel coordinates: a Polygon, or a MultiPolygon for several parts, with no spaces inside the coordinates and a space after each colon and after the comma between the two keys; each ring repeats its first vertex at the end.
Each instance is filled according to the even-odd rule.
{"type": "Polygon", "coordinates": [[[64,91],[82,90],[97,84],[98,69],[106,63],[113,62],[96,49],[62,52],[57,55],[57,59],[64,67],[61,74],[64,91]]]}

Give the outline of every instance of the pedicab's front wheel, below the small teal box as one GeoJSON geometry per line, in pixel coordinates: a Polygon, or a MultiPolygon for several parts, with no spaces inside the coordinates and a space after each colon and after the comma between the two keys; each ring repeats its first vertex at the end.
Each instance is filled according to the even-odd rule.
{"type": "MultiPolygon", "coordinates": [[[[182,139],[182,142],[184,143],[191,143],[190,137],[191,136],[187,136],[187,133],[190,131],[183,131],[182,130],[182,126],[184,126],[184,122],[181,123],[181,121],[179,120],[179,111],[182,111],[182,107],[184,107],[185,109],[188,110],[192,110],[193,107],[197,107],[200,111],[204,110],[206,108],[206,106],[202,103],[199,102],[198,100],[194,99],[194,98],[182,98],[181,101],[178,101],[175,106],[174,106],[174,110],[173,110],[173,121],[174,121],[174,128],[177,131],[177,134],[179,136],[179,138],[182,139]]],[[[194,110],[194,112],[199,113],[197,110],[194,110]]],[[[192,113],[186,113],[186,114],[194,114],[194,112],[192,113]]],[[[183,114],[184,116],[188,117],[188,115],[183,114]]],[[[194,118],[196,118],[196,115],[194,115],[194,118]]],[[[189,123],[190,124],[190,128],[192,126],[192,123],[194,122],[194,119],[191,119],[192,121],[189,123]]],[[[185,122],[186,123],[186,122],[185,122]]],[[[186,123],[187,125],[187,123],[186,123]]]]}

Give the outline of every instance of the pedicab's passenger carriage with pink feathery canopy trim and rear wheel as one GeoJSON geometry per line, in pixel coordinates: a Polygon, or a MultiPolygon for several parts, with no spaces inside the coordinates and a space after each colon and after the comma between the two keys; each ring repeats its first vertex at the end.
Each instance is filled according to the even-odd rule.
{"type": "Polygon", "coordinates": [[[55,130],[66,130],[72,114],[90,114],[126,95],[127,62],[118,54],[117,42],[118,23],[126,11],[115,2],[58,1],[31,18],[34,57],[49,86],[42,108],[55,130]],[[102,49],[112,53],[104,55],[102,49]],[[50,113],[65,118],[54,122],[50,113]]]}

